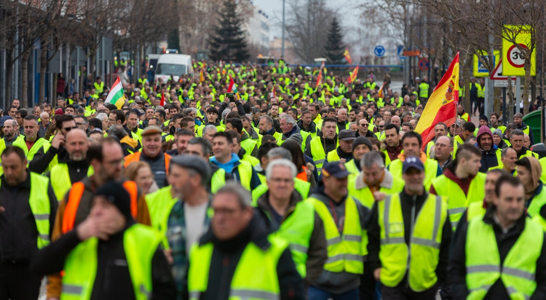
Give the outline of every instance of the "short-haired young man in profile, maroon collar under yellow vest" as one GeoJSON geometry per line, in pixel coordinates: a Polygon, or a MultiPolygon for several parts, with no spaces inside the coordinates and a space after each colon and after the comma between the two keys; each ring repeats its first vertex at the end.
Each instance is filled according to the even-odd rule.
{"type": "Polygon", "coordinates": [[[449,164],[444,174],[432,180],[430,187],[431,193],[448,197],[449,219],[453,230],[468,204],[483,200],[485,185],[485,174],[478,172],[482,151],[474,145],[462,144],[455,157],[455,162],[449,164]]]}

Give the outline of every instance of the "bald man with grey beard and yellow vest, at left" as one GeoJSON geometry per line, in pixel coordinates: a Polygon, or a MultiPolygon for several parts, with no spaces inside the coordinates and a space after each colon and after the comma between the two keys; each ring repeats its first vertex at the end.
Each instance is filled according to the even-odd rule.
{"type": "Polygon", "coordinates": [[[60,157],[59,163],[51,168],[50,172],[51,186],[58,201],[63,199],[73,183],[91,175],[86,160],[89,146],[85,131],[79,128],[70,130],[66,134],[64,148],[67,150],[68,158],[60,157]]]}

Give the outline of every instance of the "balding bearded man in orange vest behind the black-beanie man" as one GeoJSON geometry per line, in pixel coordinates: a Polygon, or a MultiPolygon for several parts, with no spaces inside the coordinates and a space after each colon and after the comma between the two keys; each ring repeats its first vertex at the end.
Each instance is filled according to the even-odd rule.
{"type": "MultiPolygon", "coordinates": [[[[59,202],[55,226],[51,240],[59,239],[63,234],[76,228],[90,213],[93,193],[110,181],[120,181],[131,197],[131,212],[136,222],[150,225],[150,215],[144,195],[134,181],[121,179],[123,151],[120,143],[113,137],[104,138],[100,144],[90,146],[87,159],[94,169],[94,174],[72,185],[59,202]]],[[[61,275],[48,276],[47,297],[60,298],[61,275]]]]}

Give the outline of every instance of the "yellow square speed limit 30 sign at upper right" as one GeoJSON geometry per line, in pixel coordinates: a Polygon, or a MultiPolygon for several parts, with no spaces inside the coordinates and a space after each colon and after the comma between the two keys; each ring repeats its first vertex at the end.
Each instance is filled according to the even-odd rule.
{"type": "MultiPolygon", "coordinates": [[[[502,75],[525,76],[526,54],[521,52],[521,50],[526,51],[530,48],[532,31],[533,27],[530,25],[505,25],[502,35],[502,57],[506,62],[502,64],[502,75]]],[[[536,51],[534,46],[532,49],[530,72],[531,76],[535,76],[536,51]]]]}

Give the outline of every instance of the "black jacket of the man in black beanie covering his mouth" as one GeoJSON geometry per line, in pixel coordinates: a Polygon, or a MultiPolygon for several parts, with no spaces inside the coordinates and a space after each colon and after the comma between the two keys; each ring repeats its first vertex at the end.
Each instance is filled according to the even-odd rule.
{"type": "MultiPolygon", "coordinates": [[[[97,246],[97,277],[94,280],[91,300],[135,298],[127,258],[123,249],[123,233],[133,224],[134,221],[129,221],[128,226],[121,232],[110,236],[108,240],[99,240],[97,246]]],[[[76,230],[64,234],[60,239],[41,249],[35,255],[30,266],[31,269],[33,272],[44,275],[61,272],[68,254],[80,242],[76,230]]],[[[173,275],[161,245],[153,254],[151,264],[151,299],[176,299],[176,286],[173,275]]]]}

